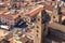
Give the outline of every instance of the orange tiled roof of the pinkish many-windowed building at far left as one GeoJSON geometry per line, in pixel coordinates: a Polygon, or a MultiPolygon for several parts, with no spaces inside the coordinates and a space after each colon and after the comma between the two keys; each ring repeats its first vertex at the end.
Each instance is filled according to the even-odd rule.
{"type": "Polygon", "coordinates": [[[18,13],[15,13],[14,11],[9,11],[6,13],[3,13],[1,16],[5,17],[5,18],[9,18],[9,19],[15,19],[21,15],[18,13]]]}

